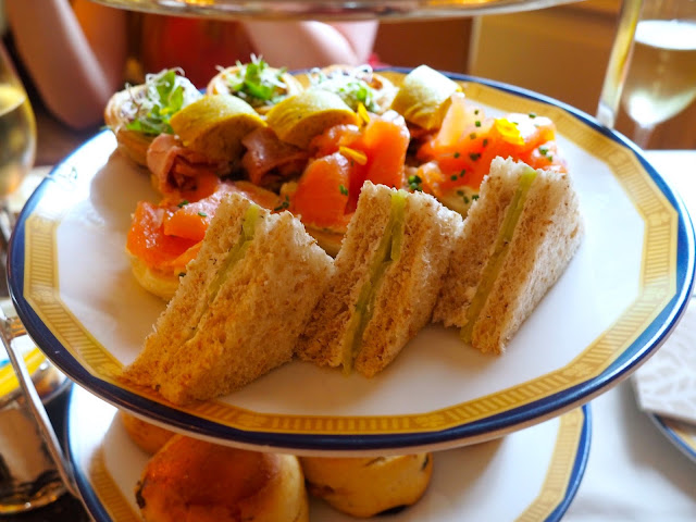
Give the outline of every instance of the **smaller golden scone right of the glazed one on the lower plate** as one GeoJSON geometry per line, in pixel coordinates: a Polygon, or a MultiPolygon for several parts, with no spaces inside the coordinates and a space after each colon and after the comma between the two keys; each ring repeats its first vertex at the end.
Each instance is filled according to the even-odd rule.
{"type": "Polygon", "coordinates": [[[353,517],[415,504],[433,474],[433,455],[300,457],[311,495],[353,517]]]}

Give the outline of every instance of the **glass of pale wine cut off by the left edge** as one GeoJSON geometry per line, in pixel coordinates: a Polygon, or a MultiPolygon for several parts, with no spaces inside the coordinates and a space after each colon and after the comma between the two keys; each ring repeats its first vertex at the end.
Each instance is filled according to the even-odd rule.
{"type": "Polygon", "coordinates": [[[34,165],[35,154],[34,112],[10,57],[0,42],[0,204],[8,216],[8,196],[17,189],[34,165]]]}

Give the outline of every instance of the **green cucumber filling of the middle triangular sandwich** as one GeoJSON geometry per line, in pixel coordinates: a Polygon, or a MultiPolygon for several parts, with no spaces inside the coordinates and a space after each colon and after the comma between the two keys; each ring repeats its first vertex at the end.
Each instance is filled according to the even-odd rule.
{"type": "Polygon", "coordinates": [[[406,192],[398,190],[391,194],[389,219],[384,227],[380,245],[372,257],[368,269],[368,281],[360,288],[356,310],[350,318],[343,346],[343,370],[350,373],[352,363],[362,344],[368,323],[374,312],[374,301],[384,274],[391,264],[399,260],[403,246],[403,228],[406,224],[406,192]]]}

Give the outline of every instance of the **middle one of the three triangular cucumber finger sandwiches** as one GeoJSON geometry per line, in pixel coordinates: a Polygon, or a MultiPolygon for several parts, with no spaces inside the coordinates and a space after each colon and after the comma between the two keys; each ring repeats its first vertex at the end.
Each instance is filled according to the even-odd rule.
{"type": "Polygon", "coordinates": [[[430,322],[461,226],[461,216],[432,196],[365,182],[336,257],[336,272],[297,355],[320,365],[343,365],[344,371],[355,365],[365,376],[382,371],[430,322]],[[402,216],[395,222],[397,200],[402,216]],[[381,265],[383,238],[391,247],[390,227],[402,231],[400,253],[381,265]],[[372,277],[375,271],[383,271],[380,277],[372,277]],[[365,299],[370,287],[374,295],[365,299]]]}

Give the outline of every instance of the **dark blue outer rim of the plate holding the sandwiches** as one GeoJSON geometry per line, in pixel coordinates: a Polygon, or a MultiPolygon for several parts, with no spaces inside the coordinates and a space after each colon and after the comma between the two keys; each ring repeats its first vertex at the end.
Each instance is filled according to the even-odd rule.
{"type": "MultiPolygon", "coordinates": [[[[408,73],[410,69],[381,67],[375,71],[408,73]]],[[[87,147],[92,140],[98,139],[104,133],[111,133],[109,129],[103,129],[98,133],[77,148],[73,153],[67,156],[61,163],[55,165],[49,176],[41,182],[35,192],[29,197],[17,219],[15,232],[11,238],[8,251],[8,282],[17,314],[24,323],[27,332],[37,343],[39,348],[41,348],[47,357],[61,371],[66,373],[82,386],[92,390],[92,393],[114,406],[125,408],[136,414],[150,418],[156,422],[170,424],[200,436],[221,438],[245,445],[261,445],[284,449],[294,448],[298,450],[353,451],[399,449],[417,446],[428,447],[452,443],[465,445],[473,442],[481,442],[485,438],[492,438],[501,433],[523,427],[524,425],[529,425],[533,422],[540,422],[562,411],[568,411],[592,399],[601,391],[607,390],[610,385],[618,384],[623,378],[627,377],[632,371],[637,369],[651,353],[655,352],[655,350],[659,348],[659,346],[661,346],[686,310],[688,297],[691,296],[694,286],[694,268],[696,261],[694,253],[694,226],[684,202],[667,181],[649,163],[643,151],[636,145],[631,142],[620,133],[605,127],[598,123],[596,119],[583,111],[550,97],[539,95],[527,89],[518,88],[509,84],[456,73],[445,74],[457,80],[485,85],[499,89],[504,92],[526,97],[535,101],[562,109],[571,116],[584,123],[587,127],[600,133],[608,139],[611,139],[630,150],[645,169],[646,173],[650,176],[660,192],[676,211],[678,251],[675,275],[678,291],[672,299],[664,304],[660,313],[657,314],[650,324],[646,326],[646,328],[624,350],[624,352],[607,369],[605,369],[600,375],[548,397],[537,399],[529,405],[524,405],[496,415],[490,415],[482,420],[469,422],[463,425],[433,432],[378,435],[293,434],[238,430],[220,425],[213,421],[199,419],[195,415],[181,412],[159,402],[153,402],[145,397],[137,396],[97,378],[89,374],[89,372],[86,372],[82,365],[62,347],[58,339],[42,324],[26,299],[24,299],[24,238],[26,220],[50,185],[55,183],[55,179],[53,178],[55,172],[61,167],[61,165],[70,163],[71,158],[75,154],[79,154],[80,150],[84,147],[87,147]]]]}

